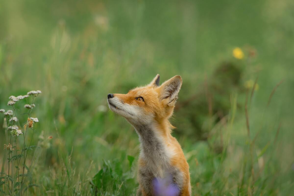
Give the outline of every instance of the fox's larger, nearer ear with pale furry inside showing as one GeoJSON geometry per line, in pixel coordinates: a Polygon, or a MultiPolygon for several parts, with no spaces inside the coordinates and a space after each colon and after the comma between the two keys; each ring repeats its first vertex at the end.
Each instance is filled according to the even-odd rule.
{"type": "Polygon", "coordinates": [[[178,98],[178,93],[182,86],[182,78],[179,75],[172,77],[161,85],[160,99],[167,99],[169,105],[178,98]]]}

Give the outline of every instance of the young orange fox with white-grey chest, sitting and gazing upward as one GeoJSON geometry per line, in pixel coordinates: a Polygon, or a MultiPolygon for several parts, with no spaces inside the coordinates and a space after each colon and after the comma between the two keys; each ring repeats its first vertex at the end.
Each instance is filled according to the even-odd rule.
{"type": "Polygon", "coordinates": [[[190,196],[189,165],[168,121],[182,85],[179,75],[159,85],[159,74],[127,94],[108,94],[109,108],[133,125],[141,144],[137,196],[190,196]]]}

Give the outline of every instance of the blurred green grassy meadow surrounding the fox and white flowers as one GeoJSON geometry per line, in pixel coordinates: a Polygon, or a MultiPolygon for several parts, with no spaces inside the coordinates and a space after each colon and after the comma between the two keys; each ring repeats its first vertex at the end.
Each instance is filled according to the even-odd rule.
{"type": "Polygon", "coordinates": [[[26,149],[28,168],[24,157],[8,162],[0,113],[0,195],[134,195],[138,136],[106,97],[158,73],[183,78],[171,123],[192,195],[293,194],[293,9],[290,0],[1,2],[0,109],[13,109],[11,95],[42,93],[29,110],[34,132],[23,127],[25,99],[15,105],[27,138],[11,153],[37,146],[26,149]]]}

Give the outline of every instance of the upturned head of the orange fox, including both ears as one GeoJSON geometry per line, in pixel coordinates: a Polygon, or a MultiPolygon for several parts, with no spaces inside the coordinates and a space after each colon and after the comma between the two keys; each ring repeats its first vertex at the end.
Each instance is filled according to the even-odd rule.
{"type": "Polygon", "coordinates": [[[108,94],[107,101],[112,111],[134,126],[165,122],[173,114],[181,85],[179,75],[159,85],[157,74],[150,84],[131,89],[127,94],[108,94]]]}

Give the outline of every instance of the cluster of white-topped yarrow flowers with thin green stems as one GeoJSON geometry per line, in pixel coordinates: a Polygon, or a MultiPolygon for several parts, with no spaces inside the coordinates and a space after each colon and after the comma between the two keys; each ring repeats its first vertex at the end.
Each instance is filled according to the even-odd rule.
{"type": "MultiPolygon", "coordinates": [[[[4,109],[0,109],[0,113],[3,114],[4,116],[4,125],[3,128],[5,129],[5,138],[6,138],[6,143],[4,144],[4,150],[7,150],[7,153],[4,153],[4,158],[3,160],[8,160],[8,174],[6,173],[1,173],[0,178],[4,178],[5,179],[10,179],[10,180],[6,180],[4,181],[4,189],[2,189],[2,187],[0,186],[0,192],[5,193],[5,195],[22,195],[23,191],[24,191],[24,185],[28,186],[27,183],[31,183],[31,181],[26,180],[26,176],[25,175],[25,165],[26,165],[26,158],[28,156],[28,150],[31,148],[31,141],[32,138],[34,136],[34,131],[35,131],[35,124],[37,122],[39,122],[38,118],[33,118],[31,117],[31,112],[33,110],[33,108],[36,107],[36,105],[34,104],[35,102],[35,98],[36,96],[38,96],[41,93],[40,90],[36,90],[36,91],[29,91],[27,92],[26,95],[19,95],[19,96],[13,96],[11,95],[9,97],[9,101],[7,103],[8,106],[11,106],[12,109],[11,110],[7,110],[5,111],[4,109]],[[31,99],[27,99],[31,97],[31,99]],[[26,104],[24,105],[24,108],[28,109],[28,112],[26,114],[28,114],[28,119],[26,121],[26,123],[22,126],[20,119],[17,116],[16,113],[16,104],[19,104],[21,99],[26,99],[26,104]],[[27,134],[29,130],[32,130],[32,134],[27,134]],[[22,150],[18,149],[18,140],[19,140],[19,136],[22,135],[23,136],[23,144],[21,144],[22,146],[22,150]],[[27,145],[26,141],[28,141],[27,137],[31,135],[31,140],[29,145],[27,145]],[[16,150],[14,151],[14,148],[16,148],[16,150]],[[8,157],[6,157],[8,156],[8,157]],[[23,160],[23,162],[21,163],[21,160],[23,160]],[[21,168],[20,165],[23,165],[22,168],[22,173],[21,173],[21,168]],[[13,168],[17,168],[16,171],[13,170],[13,168]],[[3,177],[4,175],[4,177],[3,177]]],[[[21,137],[22,138],[22,137],[21,137]]],[[[6,162],[6,161],[5,161],[6,162]]],[[[2,168],[5,167],[5,162],[3,162],[4,164],[2,165],[2,168]]],[[[26,170],[28,170],[27,172],[29,172],[29,168],[26,168],[26,170]]],[[[1,184],[3,185],[3,183],[1,184]]]]}

